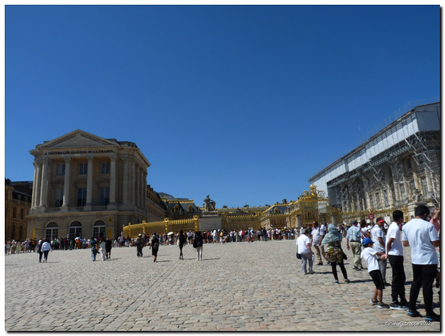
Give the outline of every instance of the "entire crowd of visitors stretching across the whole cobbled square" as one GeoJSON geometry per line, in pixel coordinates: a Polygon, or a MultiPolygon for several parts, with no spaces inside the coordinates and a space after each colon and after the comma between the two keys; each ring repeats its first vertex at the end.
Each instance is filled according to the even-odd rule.
{"type": "Polygon", "coordinates": [[[378,308],[394,310],[408,310],[411,317],[419,317],[416,310],[416,300],[420,289],[423,289],[423,299],[427,321],[439,321],[439,315],[432,308],[432,285],[436,280],[436,287],[440,286],[439,268],[439,233],[440,211],[435,210],[430,215],[426,205],[419,205],[414,210],[414,219],[404,223],[401,210],[393,212],[390,225],[379,217],[375,224],[367,224],[365,220],[352,221],[350,226],[339,224],[326,225],[312,223],[312,228],[261,228],[254,230],[207,230],[193,233],[164,233],[163,235],[139,234],[138,237],[124,237],[121,235],[114,242],[109,237],[92,237],[90,240],[77,237],[75,239],[60,238],[54,240],[24,240],[15,242],[7,240],[5,253],[37,252],[39,262],[47,262],[49,251],[91,249],[92,261],[100,254],[102,261],[111,258],[113,247],[136,246],[137,257],[143,257],[143,248],[149,247],[153,262],[157,262],[157,253],[161,245],[179,246],[179,259],[184,260],[182,249],[186,244],[193,244],[196,249],[197,260],[202,260],[204,244],[226,244],[231,242],[255,242],[270,240],[296,240],[297,258],[302,260],[302,274],[315,274],[314,266],[322,266],[323,260],[330,265],[334,283],[339,284],[337,266],[341,270],[344,282],[350,283],[344,260],[348,255],[343,251],[341,241],[346,238],[346,248],[352,253],[354,271],[364,269],[362,260],[375,284],[373,297],[370,300],[378,308]],[[410,289],[409,301],[405,296],[405,270],[403,266],[403,246],[410,246],[413,270],[413,281],[410,289]],[[313,250],[314,249],[314,250],[313,250]],[[386,278],[387,262],[392,269],[391,283],[386,278]],[[391,287],[391,303],[383,302],[383,289],[391,287]]]}

